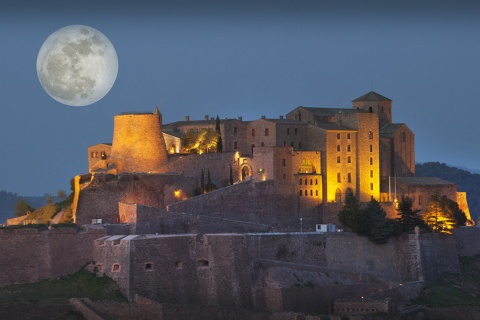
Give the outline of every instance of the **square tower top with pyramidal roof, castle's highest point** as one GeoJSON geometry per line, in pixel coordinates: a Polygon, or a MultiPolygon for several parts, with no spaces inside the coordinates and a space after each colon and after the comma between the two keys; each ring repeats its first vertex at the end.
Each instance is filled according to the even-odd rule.
{"type": "Polygon", "coordinates": [[[355,100],[352,100],[353,109],[367,110],[378,114],[380,128],[392,123],[392,100],[375,91],[370,91],[355,100]]]}

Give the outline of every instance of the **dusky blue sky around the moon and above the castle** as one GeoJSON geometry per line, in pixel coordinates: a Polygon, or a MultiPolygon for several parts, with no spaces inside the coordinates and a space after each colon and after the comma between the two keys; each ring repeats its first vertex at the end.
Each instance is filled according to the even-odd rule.
{"type": "Polygon", "coordinates": [[[372,88],[415,133],[417,162],[480,169],[480,5],[418,2],[2,1],[0,189],[68,190],[121,112],[255,120],[348,108],[372,88]],[[119,59],[112,90],[87,107],[53,100],[35,69],[71,24],[104,33],[119,59]]]}

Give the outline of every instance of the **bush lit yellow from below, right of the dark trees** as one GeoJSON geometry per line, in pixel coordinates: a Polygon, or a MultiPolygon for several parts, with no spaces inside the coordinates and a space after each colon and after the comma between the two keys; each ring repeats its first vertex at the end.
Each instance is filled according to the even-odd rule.
{"type": "Polygon", "coordinates": [[[452,233],[453,228],[464,226],[467,218],[455,201],[436,193],[430,198],[424,220],[434,232],[452,233]]]}

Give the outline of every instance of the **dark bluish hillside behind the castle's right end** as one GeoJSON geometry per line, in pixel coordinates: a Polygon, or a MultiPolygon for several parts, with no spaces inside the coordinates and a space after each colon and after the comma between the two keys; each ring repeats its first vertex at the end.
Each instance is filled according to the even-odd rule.
{"type": "Polygon", "coordinates": [[[458,191],[467,192],[467,201],[472,220],[480,216],[480,174],[450,167],[440,162],[425,162],[415,166],[417,177],[438,177],[458,185],[458,191]]]}

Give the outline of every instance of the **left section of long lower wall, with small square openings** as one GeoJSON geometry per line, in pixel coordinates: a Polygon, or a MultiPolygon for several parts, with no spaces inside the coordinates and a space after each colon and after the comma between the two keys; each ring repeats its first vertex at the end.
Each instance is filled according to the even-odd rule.
{"type": "Polygon", "coordinates": [[[253,306],[248,254],[242,235],[119,238],[96,241],[96,258],[130,300],[139,294],[174,303],[253,306]],[[122,265],[120,272],[112,272],[114,263],[122,265]]]}

